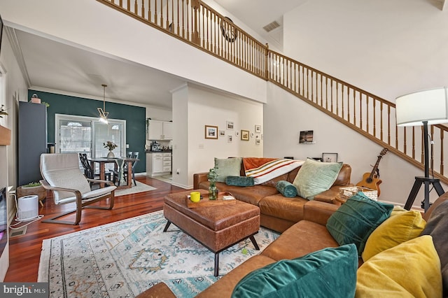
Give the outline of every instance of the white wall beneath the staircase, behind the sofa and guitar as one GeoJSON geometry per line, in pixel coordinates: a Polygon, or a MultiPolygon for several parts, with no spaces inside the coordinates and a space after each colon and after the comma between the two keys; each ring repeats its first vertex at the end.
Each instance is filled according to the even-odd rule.
{"type": "MultiPolygon", "coordinates": [[[[269,102],[264,108],[264,153],[266,157],[293,156],[295,159],[321,157],[323,152],[338,153],[338,162],[351,165],[351,183],[362,180],[363,173],[372,171],[381,146],[360,136],[337,120],[294,97],[276,85],[269,84],[269,102]],[[314,131],[314,144],[299,143],[300,131],[314,131]]],[[[414,176],[423,176],[420,169],[400,157],[388,153],[379,164],[382,183],[381,200],[404,205],[414,183],[414,176]]],[[[443,186],[448,189],[446,185],[443,186]]],[[[419,196],[423,195],[423,187],[419,196]]],[[[431,192],[431,201],[437,194],[431,192]]],[[[414,203],[419,207],[419,201],[414,203]]]]}

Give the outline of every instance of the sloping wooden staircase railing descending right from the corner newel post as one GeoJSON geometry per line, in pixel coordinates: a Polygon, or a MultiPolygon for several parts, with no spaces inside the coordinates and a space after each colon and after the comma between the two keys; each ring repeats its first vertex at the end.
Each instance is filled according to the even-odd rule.
{"type": "MultiPolygon", "coordinates": [[[[307,101],[368,139],[424,169],[423,127],[397,127],[395,104],[269,50],[269,81],[307,101]]],[[[430,125],[430,175],[448,183],[444,166],[448,127],[430,125]],[[438,171],[437,171],[438,170],[438,171]]]]}

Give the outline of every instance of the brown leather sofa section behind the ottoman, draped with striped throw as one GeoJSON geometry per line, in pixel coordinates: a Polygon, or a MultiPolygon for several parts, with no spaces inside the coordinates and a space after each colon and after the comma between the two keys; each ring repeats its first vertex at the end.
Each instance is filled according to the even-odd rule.
{"type": "MultiPolygon", "coordinates": [[[[286,180],[293,183],[298,171],[300,171],[300,167],[290,171],[286,180]]],[[[193,188],[195,190],[209,189],[207,174],[208,172],[195,173],[193,175],[193,188]]],[[[314,200],[333,203],[339,192],[339,187],[352,185],[350,183],[350,175],[351,166],[349,166],[349,164],[344,164],[330,190],[316,195],[314,200]]],[[[247,187],[231,186],[220,182],[216,183],[216,187],[218,187],[220,192],[230,192],[239,201],[244,201],[260,207],[260,225],[276,232],[283,232],[303,219],[304,205],[307,204],[309,200],[298,196],[293,198],[283,197],[283,195],[276,190],[275,185],[276,179],[263,183],[263,185],[247,187]]]]}

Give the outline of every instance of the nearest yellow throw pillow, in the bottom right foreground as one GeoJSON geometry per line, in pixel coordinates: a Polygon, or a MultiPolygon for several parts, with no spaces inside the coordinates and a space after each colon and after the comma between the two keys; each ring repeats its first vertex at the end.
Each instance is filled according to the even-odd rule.
{"type": "Polygon", "coordinates": [[[355,297],[442,297],[440,259],[429,235],[375,255],[357,278],[355,297]]]}

